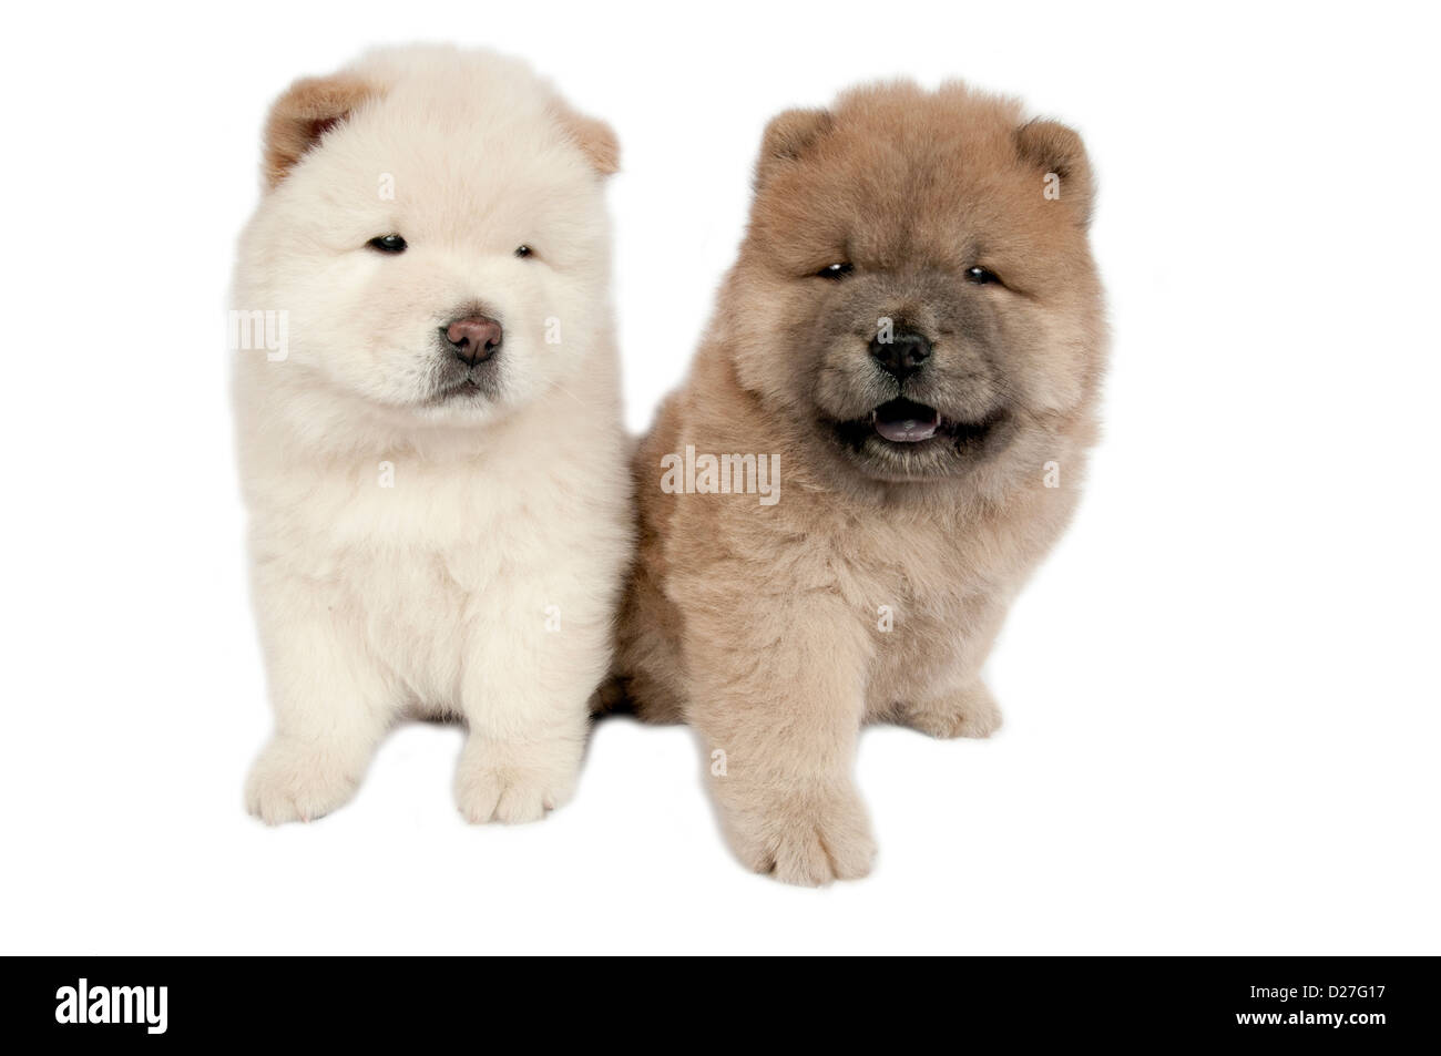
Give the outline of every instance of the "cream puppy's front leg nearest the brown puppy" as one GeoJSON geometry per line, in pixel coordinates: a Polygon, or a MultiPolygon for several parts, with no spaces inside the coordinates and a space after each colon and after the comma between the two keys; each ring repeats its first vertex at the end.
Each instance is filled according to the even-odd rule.
{"type": "Polygon", "coordinates": [[[509,612],[477,635],[461,690],[470,736],[455,802],[476,824],[539,821],[571,798],[610,653],[608,619],[579,605],[509,612]]]}

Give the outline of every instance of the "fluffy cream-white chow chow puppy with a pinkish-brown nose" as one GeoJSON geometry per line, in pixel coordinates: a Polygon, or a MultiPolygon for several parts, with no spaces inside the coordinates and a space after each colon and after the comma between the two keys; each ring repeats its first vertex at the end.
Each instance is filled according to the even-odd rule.
{"type": "Polygon", "coordinates": [[[265,821],[343,804],[406,710],[468,723],[471,821],[571,794],[630,550],[615,163],[490,53],[380,52],[275,102],[232,311],[265,821]]]}

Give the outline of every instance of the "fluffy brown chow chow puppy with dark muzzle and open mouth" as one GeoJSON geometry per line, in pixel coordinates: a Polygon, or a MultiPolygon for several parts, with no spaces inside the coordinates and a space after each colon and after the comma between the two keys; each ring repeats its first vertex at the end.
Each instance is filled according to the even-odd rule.
{"type": "Polygon", "coordinates": [[[637,452],[617,661],[640,715],[700,730],[755,870],[870,869],[862,723],[1000,725],[981,664],[1095,437],[1091,192],[1074,131],[955,84],[765,131],[741,258],[637,452]]]}

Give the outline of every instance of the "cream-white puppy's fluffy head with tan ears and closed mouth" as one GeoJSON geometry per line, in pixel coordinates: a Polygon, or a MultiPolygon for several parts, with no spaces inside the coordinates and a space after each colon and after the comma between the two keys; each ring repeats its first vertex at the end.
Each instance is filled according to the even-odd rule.
{"type": "Polygon", "coordinates": [[[274,105],[236,310],[281,311],[308,399],[467,425],[526,403],[605,326],[614,134],[525,65],[380,52],[274,105]]]}

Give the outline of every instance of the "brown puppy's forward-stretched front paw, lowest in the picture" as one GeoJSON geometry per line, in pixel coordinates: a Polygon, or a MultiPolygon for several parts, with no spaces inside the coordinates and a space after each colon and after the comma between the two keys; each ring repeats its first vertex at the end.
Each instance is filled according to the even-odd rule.
{"type": "Polygon", "coordinates": [[[870,872],[876,841],[849,781],[804,789],[735,788],[720,801],[731,846],[757,873],[818,887],[870,872]]]}

